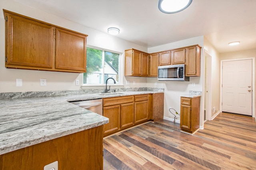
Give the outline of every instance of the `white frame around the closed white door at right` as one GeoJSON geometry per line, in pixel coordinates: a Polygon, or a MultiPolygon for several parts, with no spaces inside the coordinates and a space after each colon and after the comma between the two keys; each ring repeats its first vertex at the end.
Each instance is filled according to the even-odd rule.
{"type": "Polygon", "coordinates": [[[240,58],[220,61],[220,112],[222,112],[222,66],[225,61],[252,60],[252,117],[255,117],[255,58],[240,58]]]}

